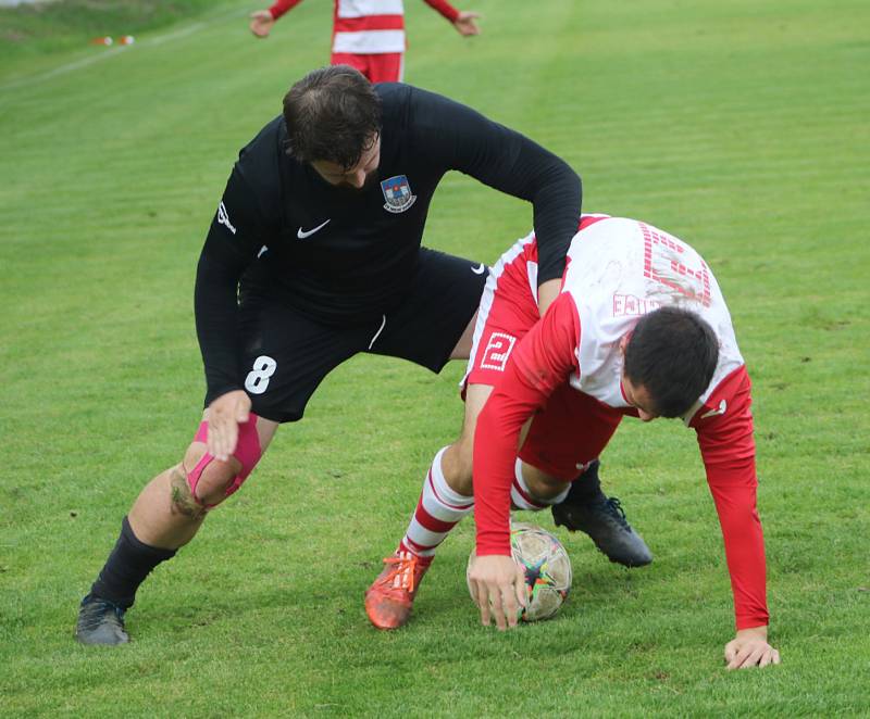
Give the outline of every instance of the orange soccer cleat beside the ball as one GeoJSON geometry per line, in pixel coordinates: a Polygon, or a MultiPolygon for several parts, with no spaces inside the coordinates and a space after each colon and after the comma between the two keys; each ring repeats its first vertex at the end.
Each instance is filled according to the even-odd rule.
{"type": "Polygon", "coordinates": [[[410,552],[384,559],[384,570],[365,591],[365,614],[377,629],[398,629],[411,616],[417,590],[432,564],[410,552]]]}

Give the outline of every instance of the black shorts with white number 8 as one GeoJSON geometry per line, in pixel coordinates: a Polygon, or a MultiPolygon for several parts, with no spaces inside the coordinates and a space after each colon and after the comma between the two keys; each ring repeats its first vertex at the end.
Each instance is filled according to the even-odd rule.
{"type": "MultiPolygon", "coordinates": [[[[468,326],[486,282],[484,265],[421,248],[408,294],[370,324],[325,325],[284,303],[246,297],[239,311],[240,381],[252,412],[273,421],[302,418],[335,367],[359,352],[442,370],[468,326]]],[[[208,406],[215,398],[206,398],[208,406]]]]}

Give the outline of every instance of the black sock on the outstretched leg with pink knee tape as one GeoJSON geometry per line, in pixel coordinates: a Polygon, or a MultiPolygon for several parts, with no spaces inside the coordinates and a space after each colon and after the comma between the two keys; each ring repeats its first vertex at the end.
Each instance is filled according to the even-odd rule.
{"type": "Polygon", "coordinates": [[[123,609],[128,609],[136,601],[139,584],[161,562],[174,557],[175,552],[176,550],[161,550],[140,542],[124,517],[121,537],[90,588],[91,596],[109,600],[123,609]]]}

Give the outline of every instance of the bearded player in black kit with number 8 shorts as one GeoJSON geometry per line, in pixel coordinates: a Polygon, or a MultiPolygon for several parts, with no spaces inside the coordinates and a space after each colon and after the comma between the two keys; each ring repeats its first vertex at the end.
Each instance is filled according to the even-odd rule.
{"type": "Polygon", "coordinates": [[[278,424],[358,352],[439,371],[468,357],[483,264],[421,248],[432,195],[457,169],[534,205],[542,311],[577,229],[561,160],[478,113],[332,66],[297,83],[239,153],[196,280],[208,393],[181,464],[141,491],[79,608],[76,636],[128,641],[124,613],[207,512],[235,492],[278,424]]]}

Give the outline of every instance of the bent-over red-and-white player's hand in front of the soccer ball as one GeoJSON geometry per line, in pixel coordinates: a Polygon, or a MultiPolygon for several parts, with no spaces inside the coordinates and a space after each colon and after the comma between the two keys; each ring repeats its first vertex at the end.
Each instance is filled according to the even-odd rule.
{"type": "Polygon", "coordinates": [[[481,608],[481,623],[506,630],[515,627],[525,606],[525,572],[512,557],[498,554],[475,557],[469,571],[469,589],[481,608]]]}

